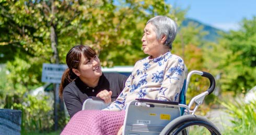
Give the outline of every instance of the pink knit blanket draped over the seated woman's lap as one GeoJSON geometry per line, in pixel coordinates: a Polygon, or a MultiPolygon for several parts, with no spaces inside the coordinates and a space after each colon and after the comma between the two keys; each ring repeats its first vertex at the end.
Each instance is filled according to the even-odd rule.
{"type": "Polygon", "coordinates": [[[83,110],[65,126],[64,134],[117,134],[124,122],[125,111],[83,110]]]}

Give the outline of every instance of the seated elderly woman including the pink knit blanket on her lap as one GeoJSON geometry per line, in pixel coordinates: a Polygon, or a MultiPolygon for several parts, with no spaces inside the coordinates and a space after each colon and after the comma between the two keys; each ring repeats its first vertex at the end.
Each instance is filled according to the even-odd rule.
{"type": "Polygon", "coordinates": [[[62,134],[71,133],[68,130],[78,121],[85,124],[79,128],[82,134],[121,133],[125,115],[121,110],[125,110],[126,105],[136,98],[178,102],[187,70],[182,58],[170,52],[176,33],[177,24],[166,16],[148,20],[142,36],[142,48],[149,56],[135,63],[117,100],[103,111],[78,112],[74,116],[76,119],[71,119],[62,134]]]}

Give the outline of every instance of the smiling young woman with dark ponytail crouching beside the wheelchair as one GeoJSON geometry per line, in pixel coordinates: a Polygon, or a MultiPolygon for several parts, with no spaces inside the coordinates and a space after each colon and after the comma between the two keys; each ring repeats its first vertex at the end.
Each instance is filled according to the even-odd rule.
{"type": "Polygon", "coordinates": [[[69,50],[66,63],[68,69],[63,73],[59,96],[71,117],[82,110],[89,97],[96,96],[108,103],[111,96],[117,97],[124,88],[127,76],[102,73],[96,52],[88,46],[78,45],[69,50]]]}

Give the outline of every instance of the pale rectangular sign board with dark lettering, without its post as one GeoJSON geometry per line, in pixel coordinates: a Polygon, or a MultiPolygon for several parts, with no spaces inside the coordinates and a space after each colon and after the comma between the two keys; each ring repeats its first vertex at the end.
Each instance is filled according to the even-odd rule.
{"type": "Polygon", "coordinates": [[[66,69],[66,64],[43,63],[42,82],[60,84],[62,74],[66,69]]]}

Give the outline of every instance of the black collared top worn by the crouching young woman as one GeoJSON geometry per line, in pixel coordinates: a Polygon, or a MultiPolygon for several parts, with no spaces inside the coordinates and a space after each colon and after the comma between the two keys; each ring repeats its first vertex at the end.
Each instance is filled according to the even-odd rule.
{"type": "Polygon", "coordinates": [[[127,76],[119,73],[102,73],[95,88],[89,87],[79,78],[69,83],[63,90],[63,99],[69,116],[82,110],[83,103],[89,97],[94,97],[106,89],[112,91],[112,97],[117,97],[123,90],[127,76]]]}

